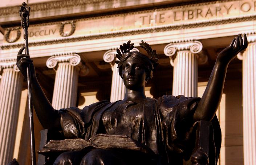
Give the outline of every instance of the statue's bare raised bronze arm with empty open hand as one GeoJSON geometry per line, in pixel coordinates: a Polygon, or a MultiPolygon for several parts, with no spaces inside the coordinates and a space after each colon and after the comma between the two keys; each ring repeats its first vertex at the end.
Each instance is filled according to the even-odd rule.
{"type": "Polygon", "coordinates": [[[246,34],[244,34],[244,41],[241,34],[239,34],[232,40],[230,45],[217,56],[206,90],[196,108],[194,121],[212,120],[222,98],[228,64],[239,52],[245,50],[247,46],[246,34]]]}

